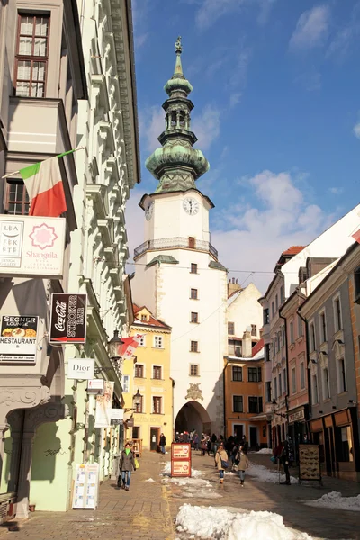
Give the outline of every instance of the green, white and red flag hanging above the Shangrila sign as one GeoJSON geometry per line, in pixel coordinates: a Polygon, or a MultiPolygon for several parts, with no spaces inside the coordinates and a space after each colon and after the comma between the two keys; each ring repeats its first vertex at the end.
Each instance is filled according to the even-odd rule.
{"type": "Polygon", "coordinates": [[[30,216],[58,218],[64,211],[67,211],[58,158],[67,156],[74,151],[70,150],[56,157],[50,157],[19,171],[29,193],[30,216]]]}

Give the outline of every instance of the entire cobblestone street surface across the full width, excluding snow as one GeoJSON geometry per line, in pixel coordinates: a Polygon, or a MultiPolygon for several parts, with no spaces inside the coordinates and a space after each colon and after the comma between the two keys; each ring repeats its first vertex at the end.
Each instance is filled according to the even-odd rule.
{"type": "MultiPolygon", "coordinates": [[[[184,503],[190,503],[276,512],[284,517],[286,526],[307,532],[314,538],[360,538],[358,512],[313,508],[302,503],[319,499],[332,490],[355,496],[359,493],[356,482],[325,478],[322,488],[296,484],[283,486],[255,482],[247,476],[246,487],[240,490],[238,478],[232,474],[227,474],[224,485],[220,486],[212,457],[193,455],[193,468],[201,470],[201,478],[211,483],[207,492],[213,499],[208,499],[203,491],[198,497],[196,493],[186,491],[184,486],[162,482],[160,473],[168,459],[168,455],[145,453],[139,470],[132,476],[130,491],[116,490],[114,481],[105,482],[100,489],[97,510],[70,510],[61,514],[36,511],[23,523],[3,526],[0,537],[14,540],[94,540],[101,537],[175,540],[178,537],[174,526],[177,511],[184,503]],[[146,482],[149,478],[155,482],[146,482]],[[19,530],[14,530],[16,527],[19,530]]],[[[266,463],[268,457],[250,455],[250,460],[261,464],[266,463]]]]}

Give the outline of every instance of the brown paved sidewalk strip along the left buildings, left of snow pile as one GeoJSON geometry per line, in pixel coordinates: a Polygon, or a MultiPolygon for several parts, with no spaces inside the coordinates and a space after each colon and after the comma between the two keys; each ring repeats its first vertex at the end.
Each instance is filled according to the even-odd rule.
{"type": "Polygon", "coordinates": [[[0,527],[1,540],[173,540],[167,492],[159,482],[164,456],[144,453],[140,467],[131,476],[130,491],[117,490],[115,481],[100,487],[97,510],[68,512],[35,511],[30,519],[0,527]],[[148,478],[157,482],[145,482],[148,478]],[[18,532],[9,532],[9,527],[18,532]]]}

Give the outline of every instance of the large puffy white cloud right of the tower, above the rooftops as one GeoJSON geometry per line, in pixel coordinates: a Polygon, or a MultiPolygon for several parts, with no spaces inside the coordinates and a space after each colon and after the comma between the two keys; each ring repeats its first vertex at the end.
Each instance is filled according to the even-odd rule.
{"type": "Polygon", "coordinates": [[[280,254],[288,247],[308,244],[334,216],[309,203],[305,190],[295,185],[288,172],[265,170],[239,182],[238,199],[214,215],[211,243],[219,249],[224,266],[247,270],[247,274],[236,274],[240,282],[250,271],[260,271],[250,279],[264,293],[280,254]],[[245,186],[253,204],[243,197],[245,186]]]}

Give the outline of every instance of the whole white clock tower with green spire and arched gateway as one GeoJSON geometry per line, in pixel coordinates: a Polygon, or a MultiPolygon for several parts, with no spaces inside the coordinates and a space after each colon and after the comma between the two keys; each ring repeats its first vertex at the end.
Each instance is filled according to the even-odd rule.
{"type": "Polygon", "coordinates": [[[161,148],[146,161],[158,184],[155,193],[139,203],[145,212],[145,242],[135,249],[131,289],[135,302],[172,327],[175,430],[219,435],[224,429],[227,272],[211,245],[213,203],[195,185],[209,163],[193,148],[193,86],[184,77],[181,53],[178,38],[174,75],[164,88],[168,97],[163,104],[165,130],[158,137],[161,148]]]}

